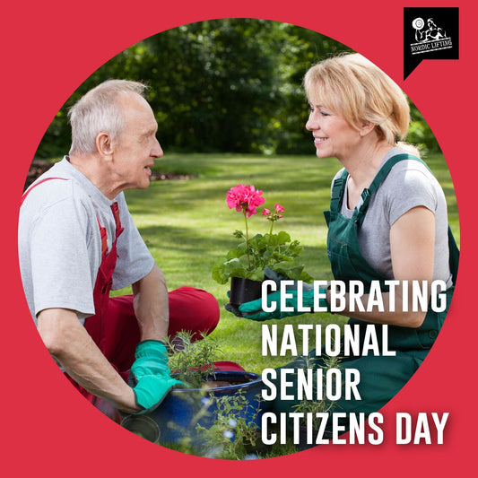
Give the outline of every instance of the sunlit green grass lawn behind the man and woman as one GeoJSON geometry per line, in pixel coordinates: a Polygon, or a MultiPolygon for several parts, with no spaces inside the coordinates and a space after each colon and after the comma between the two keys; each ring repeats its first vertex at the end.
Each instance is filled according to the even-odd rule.
{"type": "MultiPolygon", "coordinates": [[[[449,222],[459,241],[456,196],[447,164],[441,155],[426,159],[447,196],[449,222]]],[[[236,244],[232,232],[244,229],[241,213],[230,210],[226,193],[239,183],[264,191],[265,207],[275,203],[285,208],[274,231],[287,230],[305,249],[309,274],[332,279],[326,256],[326,222],[330,182],[340,169],[336,160],[310,156],[264,157],[232,154],[167,154],[156,169],[194,174],[189,180],[155,181],[143,191],[126,191],[126,201],[135,223],[158,265],[166,275],[169,290],[181,285],[203,288],[219,301],[221,321],[213,332],[222,350],[222,360],[237,361],[260,373],[265,367],[287,363],[290,357],[261,356],[261,323],[234,317],[224,310],[227,285],[214,282],[214,263],[236,244]]],[[[265,233],[269,222],[260,214],[249,220],[249,232],[265,233]]],[[[115,295],[129,292],[122,290],[115,295]]],[[[303,315],[292,324],[343,324],[345,317],[327,314],[303,315]]],[[[277,321],[279,327],[282,322],[277,321]]],[[[273,323],[272,321],[269,323],[273,323]]]]}

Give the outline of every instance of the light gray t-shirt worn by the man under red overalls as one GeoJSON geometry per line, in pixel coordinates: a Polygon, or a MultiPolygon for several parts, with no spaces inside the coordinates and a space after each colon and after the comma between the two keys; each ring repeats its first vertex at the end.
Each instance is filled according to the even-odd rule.
{"type": "Polygon", "coordinates": [[[117,202],[125,230],[117,240],[113,289],[121,289],[149,274],[154,260],[144,244],[125,196],[104,196],[67,158],[56,163],[31,189],[19,217],[18,248],[23,289],[31,316],[43,309],[73,309],[80,319],[95,313],[93,289],[101,262],[100,226],[108,248],[116,224],[111,204],[117,202]]]}

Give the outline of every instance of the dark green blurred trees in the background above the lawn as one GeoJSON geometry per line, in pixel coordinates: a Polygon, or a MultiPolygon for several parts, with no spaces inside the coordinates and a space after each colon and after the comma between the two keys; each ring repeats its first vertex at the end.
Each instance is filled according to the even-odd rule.
{"type": "MultiPolygon", "coordinates": [[[[302,77],[339,51],[350,50],[315,31],[265,20],[212,20],[163,31],[111,58],[74,91],[37,154],[68,150],[67,109],[109,78],[151,87],[148,100],[167,152],[308,153],[302,77]]],[[[413,139],[431,144],[416,109],[413,121],[413,139]]]]}

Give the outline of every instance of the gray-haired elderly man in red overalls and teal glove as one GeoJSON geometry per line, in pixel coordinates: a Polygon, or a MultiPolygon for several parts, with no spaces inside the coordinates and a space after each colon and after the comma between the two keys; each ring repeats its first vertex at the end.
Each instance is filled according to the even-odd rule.
{"type": "Polygon", "coordinates": [[[112,418],[147,413],[177,383],[167,335],[197,337],[219,320],[209,293],[168,293],[127,210],[123,191],[148,187],[162,156],[144,91],[111,80],[86,93],[69,113],[69,156],[26,191],[20,212],[22,282],[39,335],[75,387],[112,418]],[[109,298],[127,285],[131,296],[109,298]]]}

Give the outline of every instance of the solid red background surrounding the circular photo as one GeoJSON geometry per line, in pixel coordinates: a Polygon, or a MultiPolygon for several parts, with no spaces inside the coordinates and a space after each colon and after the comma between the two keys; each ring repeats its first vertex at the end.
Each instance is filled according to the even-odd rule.
{"type": "MultiPolygon", "coordinates": [[[[2,128],[4,176],[0,322],[3,364],[0,470],[4,476],[179,476],[270,474],[470,476],[476,473],[474,413],[477,319],[473,252],[477,6],[460,7],[460,59],[426,61],[403,81],[403,8],[398,0],[286,3],[54,0],[4,4],[2,128]],[[100,65],[161,30],[213,18],[251,17],[317,30],[359,51],[395,79],[421,110],[448,161],[461,226],[456,295],[437,343],[404,389],[382,409],[378,446],[323,446],[280,458],[230,462],[187,456],[122,430],[70,387],[41,343],[23,298],[17,218],[30,161],[62,104],[100,65]],[[45,393],[47,392],[48,393],[45,393]],[[52,397],[55,397],[52,400],[52,397]],[[72,416],[71,410],[75,410],[72,416]],[[450,413],[443,445],[396,445],[395,413],[450,413]],[[469,471],[468,471],[469,470],[469,471]]],[[[167,65],[165,65],[167,67],[167,65]]]]}

